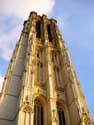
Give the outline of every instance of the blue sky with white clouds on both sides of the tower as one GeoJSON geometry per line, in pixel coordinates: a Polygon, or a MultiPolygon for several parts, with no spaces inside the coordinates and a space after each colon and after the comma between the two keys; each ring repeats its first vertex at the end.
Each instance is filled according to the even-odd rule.
{"type": "Polygon", "coordinates": [[[58,20],[89,111],[94,117],[94,0],[1,0],[0,86],[23,21],[32,10],[58,20]]]}

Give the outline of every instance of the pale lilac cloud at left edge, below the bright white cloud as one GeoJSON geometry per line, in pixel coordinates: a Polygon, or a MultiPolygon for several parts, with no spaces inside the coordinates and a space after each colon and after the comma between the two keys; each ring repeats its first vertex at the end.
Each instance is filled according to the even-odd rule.
{"type": "Polygon", "coordinates": [[[17,25],[9,32],[4,33],[2,36],[0,36],[0,57],[5,59],[6,61],[9,61],[12,56],[15,44],[21,34],[21,28],[21,25],[17,25]]]}

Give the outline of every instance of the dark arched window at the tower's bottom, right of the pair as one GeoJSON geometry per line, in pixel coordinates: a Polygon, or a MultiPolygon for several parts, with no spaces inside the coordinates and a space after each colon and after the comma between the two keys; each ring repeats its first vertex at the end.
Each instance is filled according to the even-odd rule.
{"type": "Polygon", "coordinates": [[[58,111],[59,125],[65,125],[64,111],[63,111],[62,107],[60,107],[58,105],[57,111],[58,111]]]}

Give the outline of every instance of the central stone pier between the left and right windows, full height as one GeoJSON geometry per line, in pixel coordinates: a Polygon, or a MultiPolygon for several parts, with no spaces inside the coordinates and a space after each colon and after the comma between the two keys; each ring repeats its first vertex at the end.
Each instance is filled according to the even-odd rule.
{"type": "Polygon", "coordinates": [[[56,106],[56,98],[55,98],[55,86],[54,86],[54,77],[53,77],[53,70],[52,70],[52,62],[51,62],[51,53],[48,47],[48,33],[47,33],[47,19],[46,16],[43,16],[43,23],[44,23],[44,40],[46,46],[46,60],[47,64],[47,71],[48,71],[48,83],[47,83],[47,99],[48,99],[48,123],[51,125],[58,125],[57,122],[57,106],[56,106]]]}

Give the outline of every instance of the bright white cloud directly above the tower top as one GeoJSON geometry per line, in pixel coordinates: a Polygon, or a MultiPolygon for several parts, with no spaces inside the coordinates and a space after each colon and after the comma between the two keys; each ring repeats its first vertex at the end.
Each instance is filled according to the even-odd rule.
{"type": "Polygon", "coordinates": [[[33,10],[39,14],[49,14],[54,4],[55,0],[0,0],[0,13],[27,17],[33,10]]]}

